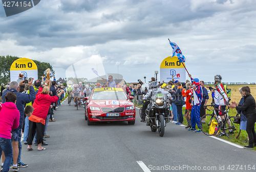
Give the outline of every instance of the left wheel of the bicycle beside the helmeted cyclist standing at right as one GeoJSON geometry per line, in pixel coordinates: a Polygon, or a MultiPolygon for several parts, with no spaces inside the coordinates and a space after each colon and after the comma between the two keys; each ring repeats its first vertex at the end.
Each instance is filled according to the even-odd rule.
{"type": "Polygon", "coordinates": [[[220,128],[220,124],[218,123],[218,120],[215,115],[205,114],[200,119],[200,127],[204,134],[206,134],[207,136],[212,136],[217,134],[220,128]],[[203,118],[205,118],[205,122],[202,122],[203,118]]]}

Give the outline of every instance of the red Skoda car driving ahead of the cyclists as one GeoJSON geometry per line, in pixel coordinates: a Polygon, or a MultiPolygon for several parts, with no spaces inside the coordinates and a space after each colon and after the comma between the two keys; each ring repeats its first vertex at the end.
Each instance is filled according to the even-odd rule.
{"type": "Polygon", "coordinates": [[[135,106],[130,101],[132,96],[121,88],[95,88],[90,97],[85,97],[85,118],[87,124],[101,121],[128,121],[128,124],[135,124],[135,106]]]}

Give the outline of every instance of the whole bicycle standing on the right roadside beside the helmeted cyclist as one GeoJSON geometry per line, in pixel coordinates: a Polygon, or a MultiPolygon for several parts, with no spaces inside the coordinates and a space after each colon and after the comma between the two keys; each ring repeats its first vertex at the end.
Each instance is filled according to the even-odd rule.
{"type": "MultiPolygon", "coordinates": [[[[238,138],[241,130],[238,124],[233,123],[234,116],[228,115],[229,108],[225,112],[219,110],[217,105],[214,103],[204,107],[207,109],[209,106],[214,107],[214,110],[212,111],[212,114],[205,114],[200,119],[200,127],[202,132],[208,136],[212,136],[216,135],[220,129],[225,132],[225,135],[228,138],[238,138]],[[221,111],[223,114],[225,114],[225,118],[221,119],[220,116],[216,113],[217,111],[221,111]],[[205,122],[202,120],[203,118],[205,118],[205,122]]],[[[210,111],[209,109],[207,110],[210,111]]]]}

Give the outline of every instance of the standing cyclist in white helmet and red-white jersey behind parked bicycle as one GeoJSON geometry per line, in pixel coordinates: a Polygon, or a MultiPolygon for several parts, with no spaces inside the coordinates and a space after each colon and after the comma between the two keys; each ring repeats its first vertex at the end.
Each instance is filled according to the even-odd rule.
{"type": "MultiPolygon", "coordinates": [[[[216,75],[214,77],[215,80],[215,87],[216,90],[212,87],[208,87],[212,92],[214,92],[214,102],[216,105],[218,105],[218,109],[221,111],[217,111],[217,114],[221,117],[221,119],[224,119],[226,117],[226,113],[223,113],[222,111],[226,111],[226,104],[228,103],[228,96],[224,89],[223,84],[221,83],[222,77],[220,75],[216,75]]],[[[229,121],[227,122],[228,125],[230,125],[229,121]]],[[[234,134],[233,130],[229,129],[228,135],[234,134]]],[[[217,137],[225,136],[224,131],[222,131],[217,137]]]]}

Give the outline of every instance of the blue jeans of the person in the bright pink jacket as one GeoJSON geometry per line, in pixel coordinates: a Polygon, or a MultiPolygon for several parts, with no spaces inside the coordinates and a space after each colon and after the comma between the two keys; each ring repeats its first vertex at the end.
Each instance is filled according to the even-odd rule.
{"type": "Polygon", "coordinates": [[[2,156],[2,150],[5,153],[5,162],[2,172],[9,171],[12,163],[12,140],[0,137],[0,157],[2,156]]]}

